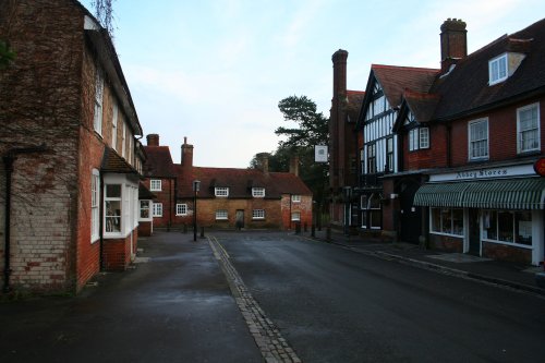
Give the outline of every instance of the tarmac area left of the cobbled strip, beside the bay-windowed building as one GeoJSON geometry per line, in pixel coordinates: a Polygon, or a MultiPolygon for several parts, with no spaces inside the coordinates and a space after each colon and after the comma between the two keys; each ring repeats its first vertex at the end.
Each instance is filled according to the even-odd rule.
{"type": "Polygon", "coordinates": [[[0,303],[0,362],[263,362],[206,242],[140,247],[136,268],[76,298],[0,303]]]}

